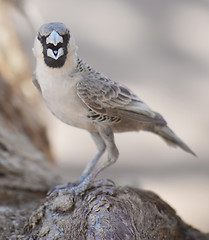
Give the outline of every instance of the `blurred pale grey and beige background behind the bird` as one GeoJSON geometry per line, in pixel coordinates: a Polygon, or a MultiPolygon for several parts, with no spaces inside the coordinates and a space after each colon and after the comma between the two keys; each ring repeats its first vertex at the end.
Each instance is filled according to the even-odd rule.
{"type": "Polygon", "coordinates": [[[116,134],[120,157],[102,177],[154,191],[188,224],[209,232],[209,1],[0,0],[1,74],[34,104],[57,168],[73,181],[96,147],[88,132],[49,113],[30,79],[36,31],[51,21],[69,26],[80,57],[161,113],[198,156],[151,133],[116,134]],[[10,48],[15,42],[21,54],[10,48]],[[5,56],[13,72],[5,71],[5,56]],[[17,70],[21,64],[24,77],[17,70]]]}

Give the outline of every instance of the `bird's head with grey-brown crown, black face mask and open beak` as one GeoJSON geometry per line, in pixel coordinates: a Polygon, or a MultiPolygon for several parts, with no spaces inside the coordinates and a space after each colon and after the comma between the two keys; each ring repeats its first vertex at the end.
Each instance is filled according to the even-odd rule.
{"type": "Polygon", "coordinates": [[[76,48],[69,29],[63,23],[52,22],[40,27],[33,52],[48,67],[61,68],[70,55],[75,54],[76,48]]]}

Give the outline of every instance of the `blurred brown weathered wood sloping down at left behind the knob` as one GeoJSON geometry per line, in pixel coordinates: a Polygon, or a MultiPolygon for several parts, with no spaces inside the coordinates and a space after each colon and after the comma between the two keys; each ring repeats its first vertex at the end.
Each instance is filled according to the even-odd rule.
{"type": "Polygon", "coordinates": [[[27,99],[0,77],[0,239],[23,233],[26,219],[60,183],[44,125],[27,99]]]}

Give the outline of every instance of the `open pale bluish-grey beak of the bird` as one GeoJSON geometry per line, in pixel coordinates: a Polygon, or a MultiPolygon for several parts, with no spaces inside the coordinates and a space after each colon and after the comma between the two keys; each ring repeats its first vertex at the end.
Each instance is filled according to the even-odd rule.
{"type": "Polygon", "coordinates": [[[64,54],[62,45],[58,44],[63,43],[63,37],[59,35],[55,30],[53,30],[50,35],[46,38],[47,47],[47,56],[57,60],[64,54]]]}

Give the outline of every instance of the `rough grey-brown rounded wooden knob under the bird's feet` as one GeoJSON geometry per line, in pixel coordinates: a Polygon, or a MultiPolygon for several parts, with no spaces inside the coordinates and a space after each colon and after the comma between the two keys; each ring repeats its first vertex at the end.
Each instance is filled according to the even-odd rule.
{"type": "Polygon", "coordinates": [[[77,197],[68,192],[48,197],[26,229],[26,239],[209,239],[156,194],[113,185],[97,186],[77,197]]]}

